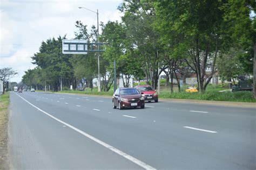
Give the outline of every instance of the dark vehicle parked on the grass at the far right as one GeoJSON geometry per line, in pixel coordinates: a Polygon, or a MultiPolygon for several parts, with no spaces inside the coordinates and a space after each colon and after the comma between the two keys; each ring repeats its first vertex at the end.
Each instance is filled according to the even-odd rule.
{"type": "Polygon", "coordinates": [[[245,76],[239,76],[238,84],[235,84],[235,86],[232,86],[232,91],[252,91],[253,90],[253,84],[250,82],[250,80],[246,79],[245,76]]]}

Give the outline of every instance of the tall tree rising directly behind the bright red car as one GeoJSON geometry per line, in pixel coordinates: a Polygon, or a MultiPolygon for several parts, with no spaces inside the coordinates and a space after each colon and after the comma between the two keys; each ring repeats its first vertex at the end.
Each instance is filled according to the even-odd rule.
{"type": "Polygon", "coordinates": [[[127,38],[143,57],[144,69],[149,70],[152,86],[156,89],[160,75],[158,63],[161,61],[161,46],[158,43],[159,34],[153,27],[157,19],[154,8],[151,3],[132,1],[124,3],[119,10],[124,12],[122,20],[127,28],[127,38]]]}

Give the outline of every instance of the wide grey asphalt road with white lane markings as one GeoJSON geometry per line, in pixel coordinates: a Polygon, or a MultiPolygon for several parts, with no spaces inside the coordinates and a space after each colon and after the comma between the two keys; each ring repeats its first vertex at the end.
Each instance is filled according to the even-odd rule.
{"type": "Polygon", "coordinates": [[[11,93],[11,169],[256,169],[255,108],[11,93]]]}

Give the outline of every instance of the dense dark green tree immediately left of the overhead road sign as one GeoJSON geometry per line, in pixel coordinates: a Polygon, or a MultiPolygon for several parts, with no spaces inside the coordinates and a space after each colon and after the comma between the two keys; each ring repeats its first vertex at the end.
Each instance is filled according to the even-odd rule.
{"type": "Polygon", "coordinates": [[[60,78],[67,87],[73,81],[73,68],[70,62],[72,55],[62,54],[63,39],[65,36],[43,41],[39,52],[31,57],[32,63],[43,69],[45,77],[55,91],[60,87],[60,78]]]}

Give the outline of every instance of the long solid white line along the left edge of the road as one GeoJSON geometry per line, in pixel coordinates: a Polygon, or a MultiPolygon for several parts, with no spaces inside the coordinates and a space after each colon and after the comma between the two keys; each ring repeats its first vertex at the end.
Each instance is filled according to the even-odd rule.
{"type": "MultiPolygon", "coordinates": [[[[18,95],[18,94],[16,94],[16,95],[19,96],[19,97],[21,97],[21,96],[18,95]]],[[[29,101],[25,100],[25,98],[23,98],[23,97],[21,97],[21,98],[22,98],[24,101],[28,102],[30,105],[32,105],[32,107],[34,107],[34,108],[38,109],[39,111],[43,112],[45,115],[47,115],[47,116],[49,116],[49,117],[55,119],[56,121],[58,121],[58,122],[60,122],[60,123],[62,123],[62,124],[64,124],[64,125],[68,126],[69,128],[71,128],[71,129],[77,131],[78,133],[83,134],[83,136],[85,136],[85,137],[87,137],[87,138],[89,138],[89,139],[95,141],[96,143],[98,143],[98,144],[100,144],[100,145],[102,145],[102,146],[108,148],[109,150],[111,150],[111,151],[113,151],[113,152],[115,152],[115,153],[121,155],[122,157],[124,157],[124,158],[126,158],[126,159],[132,161],[134,164],[137,164],[137,165],[139,165],[139,166],[141,166],[141,167],[143,167],[143,168],[145,168],[145,169],[156,169],[156,168],[153,168],[153,167],[150,166],[150,165],[145,164],[143,161],[140,161],[140,160],[138,160],[138,159],[132,157],[131,155],[126,154],[126,153],[124,153],[124,152],[118,150],[117,148],[114,148],[113,146],[104,143],[104,141],[99,140],[99,139],[97,139],[97,138],[91,136],[90,134],[87,134],[87,133],[85,133],[84,131],[75,128],[75,126],[72,126],[72,125],[70,125],[70,124],[68,124],[68,123],[66,123],[66,122],[63,122],[63,121],[61,121],[60,119],[58,119],[58,118],[56,118],[56,117],[54,117],[54,116],[48,114],[48,112],[45,112],[45,111],[43,111],[42,109],[39,109],[39,108],[36,107],[35,105],[31,104],[29,101]]]]}

